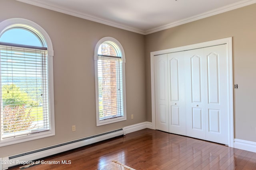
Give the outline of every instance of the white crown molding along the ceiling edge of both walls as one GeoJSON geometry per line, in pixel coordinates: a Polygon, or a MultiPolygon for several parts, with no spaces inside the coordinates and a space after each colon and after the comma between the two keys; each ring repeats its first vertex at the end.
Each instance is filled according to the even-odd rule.
{"type": "Polygon", "coordinates": [[[53,5],[53,4],[47,4],[47,3],[44,3],[40,0],[16,0],[16,1],[24,2],[26,4],[31,4],[31,5],[34,5],[34,6],[39,6],[39,7],[42,7],[42,8],[46,8],[48,10],[61,12],[61,13],[68,14],[68,15],[71,15],[71,16],[76,16],[78,18],[83,18],[83,19],[86,19],[86,20],[102,23],[102,24],[109,25],[109,26],[112,26],[112,27],[124,29],[124,30],[127,30],[127,31],[132,31],[134,33],[139,33],[139,34],[142,34],[142,35],[148,35],[148,34],[151,34],[151,33],[162,31],[164,29],[176,27],[178,25],[182,25],[182,24],[189,23],[189,22],[192,22],[192,21],[200,20],[200,19],[203,19],[203,18],[207,18],[207,17],[210,17],[210,16],[221,14],[223,12],[228,12],[230,10],[234,10],[234,9],[237,9],[237,8],[241,8],[241,7],[248,6],[248,5],[256,3],[256,0],[242,0],[240,2],[236,2],[234,4],[230,4],[230,5],[221,7],[221,8],[217,8],[215,10],[204,12],[202,14],[191,16],[189,18],[185,18],[185,19],[182,19],[182,20],[174,21],[174,22],[168,23],[166,25],[161,25],[159,27],[155,27],[155,28],[148,29],[148,30],[142,30],[142,29],[138,29],[136,27],[130,27],[128,25],[124,25],[124,24],[117,23],[117,22],[110,21],[110,20],[105,20],[103,18],[95,17],[95,16],[88,15],[88,14],[85,14],[85,13],[82,13],[82,12],[77,12],[75,10],[70,10],[68,8],[63,8],[61,6],[56,6],[56,5],[53,5]]]}

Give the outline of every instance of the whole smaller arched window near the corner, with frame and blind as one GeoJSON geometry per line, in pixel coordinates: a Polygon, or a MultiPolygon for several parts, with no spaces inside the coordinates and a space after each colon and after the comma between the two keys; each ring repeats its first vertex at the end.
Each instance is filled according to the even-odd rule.
{"type": "Polygon", "coordinates": [[[102,38],[95,48],[97,126],[126,120],[125,57],[122,45],[102,38]]]}

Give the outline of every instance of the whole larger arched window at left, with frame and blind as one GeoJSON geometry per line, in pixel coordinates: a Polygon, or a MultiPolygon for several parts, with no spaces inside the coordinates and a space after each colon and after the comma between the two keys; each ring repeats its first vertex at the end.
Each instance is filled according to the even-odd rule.
{"type": "Polygon", "coordinates": [[[0,146],[55,134],[52,57],[50,38],[36,23],[0,23],[0,146]]]}

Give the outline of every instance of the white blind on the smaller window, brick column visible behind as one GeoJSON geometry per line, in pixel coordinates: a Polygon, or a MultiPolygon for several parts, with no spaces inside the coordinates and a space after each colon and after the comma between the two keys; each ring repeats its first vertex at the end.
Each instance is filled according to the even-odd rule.
{"type": "Polygon", "coordinates": [[[100,120],[123,116],[122,59],[98,57],[100,120]]]}

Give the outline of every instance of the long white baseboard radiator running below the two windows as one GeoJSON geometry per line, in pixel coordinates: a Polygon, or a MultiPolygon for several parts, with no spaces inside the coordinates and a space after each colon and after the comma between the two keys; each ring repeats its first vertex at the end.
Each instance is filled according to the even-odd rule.
{"type": "Polygon", "coordinates": [[[104,141],[106,139],[110,139],[110,138],[118,137],[118,136],[122,136],[122,135],[125,135],[123,129],[117,129],[114,131],[109,131],[106,133],[93,135],[90,137],[78,139],[75,141],[70,141],[67,143],[62,143],[59,145],[54,145],[51,147],[46,147],[43,149],[33,150],[33,151],[22,153],[22,154],[4,157],[4,158],[2,158],[3,161],[5,161],[7,163],[8,162],[11,162],[11,163],[10,164],[2,164],[2,167],[0,166],[0,170],[1,170],[1,168],[3,170],[6,170],[6,169],[10,168],[11,166],[16,166],[19,164],[19,162],[38,160],[38,159],[44,158],[46,156],[51,156],[54,154],[58,154],[58,153],[67,151],[67,150],[76,149],[79,147],[90,145],[92,143],[104,141]]]}

